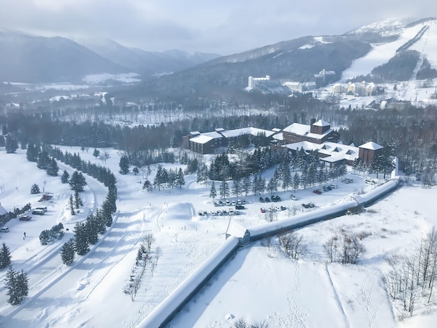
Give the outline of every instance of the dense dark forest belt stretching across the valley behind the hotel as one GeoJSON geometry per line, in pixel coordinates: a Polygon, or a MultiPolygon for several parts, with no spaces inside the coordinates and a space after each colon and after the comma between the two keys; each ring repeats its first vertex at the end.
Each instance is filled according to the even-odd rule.
{"type": "Polygon", "coordinates": [[[113,147],[127,154],[133,165],[142,167],[157,161],[176,161],[167,149],[180,147],[182,137],[190,131],[247,126],[285,128],[294,122],[309,124],[310,119],[315,118],[338,127],[344,144],[360,145],[369,140],[383,146],[390,144],[407,174],[436,171],[435,107],[410,105],[404,110],[369,111],[336,107],[312,98],[311,94],[295,98],[265,97],[262,98],[264,105],[257,104],[258,100],[252,101],[223,105],[200,99],[199,103],[205,106],[203,111],[187,110],[174,102],[139,108],[109,104],[74,111],[10,110],[0,115],[0,146],[16,144],[18,147],[20,144],[22,149],[28,144],[63,144],[84,149],[113,147]],[[141,117],[154,117],[156,122],[140,124],[141,117]]]}

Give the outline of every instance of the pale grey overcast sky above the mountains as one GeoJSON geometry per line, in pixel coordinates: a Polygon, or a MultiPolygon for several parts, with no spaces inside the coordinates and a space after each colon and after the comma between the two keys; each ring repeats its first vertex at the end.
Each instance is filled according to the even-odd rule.
{"type": "Polygon", "coordinates": [[[223,55],[430,16],[437,16],[435,0],[0,0],[0,29],[223,55]]]}

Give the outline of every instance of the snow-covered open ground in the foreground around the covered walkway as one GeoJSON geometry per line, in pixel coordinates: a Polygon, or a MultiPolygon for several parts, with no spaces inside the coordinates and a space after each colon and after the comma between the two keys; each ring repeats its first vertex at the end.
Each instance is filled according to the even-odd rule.
{"type": "MultiPolygon", "coordinates": [[[[64,147],[63,151],[80,153],[85,161],[103,165],[92,156],[92,149],[64,147]]],[[[105,166],[117,176],[118,212],[112,228],[91,251],[76,257],[72,267],[61,263],[59,248],[68,240],[41,246],[41,230],[62,222],[70,237],[75,222],[83,220],[101,205],[106,189],[87,177],[84,209],[71,216],[68,210],[68,185],[59,177],[49,177],[26,160],[25,151],[6,154],[0,148],[0,202],[8,211],[31,202],[38,207],[40,195],[31,195],[32,184],[52,193],[47,214],[33,216],[31,221],[13,219],[7,223],[10,232],[1,233],[12,252],[13,267],[29,273],[29,298],[19,306],[6,302],[6,290],[0,288],[1,327],[135,327],[175,289],[196,267],[225,240],[230,231],[265,223],[269,214],[260,213],[259,196],[246,199],[241,215],[198,216],[198,211],[213,211],[209,185],[196,184],[195,176],[186,177],[182,188],[142,191],[142,173],[118,174],[119,154],[111,150],[105,166]],[[27,237],[23,239],[23,233],[27,237]],[[149,266],[135,301],[123,292],[135,264],[142,236],[153,233],[156,247],[162,255],[154,268],[149,266]]],[[[71,168],[61,163],[63,170],[71,168]]],[[[182,167],[179,164],[166,167],[182,167]]],[[[153,180],[156,167],[151,167],[153,180]]],[[[272,171],[265,173],[266,177],[272,171]]],[[[364,183],[353,172],[353,184],[335,183],[339,188],[316,195],[313,188],[295,192],[298,200],[288,197],[291,191],[279,192],[279,205],[290,210],[277,212],[277,218],[293,215],[292,208],[301,211],[300,204],[314,202],[325,207],[349,200],[353,193],[362,193],[373,186],[364,183]]],[[[382,182],[382,180],[380,180],[382,182]]],[[[436,301],[419,304],[413,318],[401,318],[397,306],[392,306],[381,283],[387,270],[386,258],[402,254],[436,225],[434,201],[437,188],[421,188],[410,184],[377,202],[360,216],[345,216],[299,230],[309,244],[309,254],[293,261],[279,250],[277,242],[265,241],[242,248],[228,261],[205,288],[175,317],[171,327],[232,327],[238,318],[247,322],[265,322],[269,327],[434,327],[437,320],[436,301]],[[323,243],[339,231],[365,232],[367,253],[360,264],[342,266],[327,263],[323,243]]],[[[230,200],[235,200],[231,197],[230,200]]],[[[263,204],[264,206],[266,204],[263,204]]],[[[266,206],[265,206],[266,207],[266,206]]],[[[268,207],[268,206],[267,206],[268,207]]],[[[6,271],[0,271],[3,281],[6,271]]]]}

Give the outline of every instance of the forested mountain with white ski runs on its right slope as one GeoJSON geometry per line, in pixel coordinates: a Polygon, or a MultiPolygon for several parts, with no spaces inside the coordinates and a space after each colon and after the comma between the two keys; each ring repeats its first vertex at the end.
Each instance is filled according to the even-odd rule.
{"type": "MultiPolygon", "coordinates": [[[[218,57],[172,75],[143,82],[142,94],[209,96],[247,87],[248,77],[308,82],[321,70],[329,82],[405,81],[437,77],[437,20],[386,20],[341,36],[304,36],[240,54],[218,57]]],[[[135,89],[135,88],[134,88],[135,89]]],[[[135,91],[132,91],[135,94],[135,91]]]]}

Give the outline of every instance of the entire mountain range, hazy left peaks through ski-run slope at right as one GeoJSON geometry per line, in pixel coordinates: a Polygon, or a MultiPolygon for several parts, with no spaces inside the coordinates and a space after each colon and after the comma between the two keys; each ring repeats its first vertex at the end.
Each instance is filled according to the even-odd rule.
{"type": "Polygon", "coordinates": [[[434,17],[386,20],[340,36],[303,36],[225,57],[0,32],[0,81],[77,82],[90,74],[138,73],[144,81],[120,91],[124,96],[164,98],[220,96],[242,90],[249,76],[308,82],[323,69],[335,72],[330,82],[433,79],[436,44],[434,17]]]}

